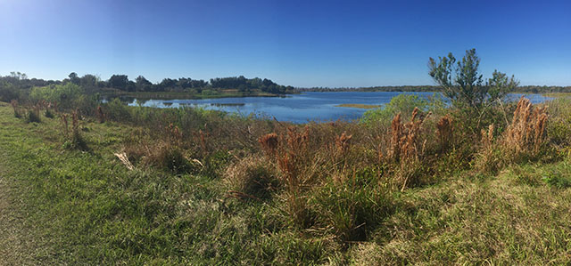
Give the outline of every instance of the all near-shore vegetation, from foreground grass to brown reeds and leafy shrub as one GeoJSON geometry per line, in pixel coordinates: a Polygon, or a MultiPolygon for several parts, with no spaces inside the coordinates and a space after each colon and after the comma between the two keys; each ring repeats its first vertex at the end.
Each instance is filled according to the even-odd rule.
{"type": "Polygon", "coordinates": [[[303,125],[3,79],[2,207],[46,264],[568,264],[571,98],[479,61],[429,60],[450,104],[303,125]]]}

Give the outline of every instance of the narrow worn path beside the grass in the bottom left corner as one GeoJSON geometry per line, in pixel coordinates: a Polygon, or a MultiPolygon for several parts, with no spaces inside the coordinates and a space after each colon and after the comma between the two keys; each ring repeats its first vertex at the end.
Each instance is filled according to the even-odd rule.
{"type": "Polygon", "coordinates": [[[18,188],[10,181],[6,154],[0,150],[0,265],[37,265],[37,243],[31,235],[18,188]]]}

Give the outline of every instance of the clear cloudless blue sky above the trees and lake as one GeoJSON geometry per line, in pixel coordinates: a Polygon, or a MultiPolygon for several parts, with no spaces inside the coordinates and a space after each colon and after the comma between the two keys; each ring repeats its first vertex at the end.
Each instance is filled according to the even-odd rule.
{"type": "Polygon", "coordinates": [[[3,76],[433,85],[428,58],[469,48],[484,77],[571,85],[571,0],[0,0],[3,76]]]}

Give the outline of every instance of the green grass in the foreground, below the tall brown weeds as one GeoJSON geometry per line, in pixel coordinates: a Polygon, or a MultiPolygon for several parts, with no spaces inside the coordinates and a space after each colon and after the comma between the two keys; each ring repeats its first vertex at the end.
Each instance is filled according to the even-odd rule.
{"type": "MultiPolygon", "coordinates": [[[[0,103],[0,193],[10,199],[4,214],[19,217],[6,226],[26,239],[19,252],[28,254],[8,263],[571,262],[568,158],[496,176],[452,170],[431,185],[383,195],[375,174],[331,182],[315,189],[308,202],[318,222],[302,230],[288,222],[278,192],[239,200],[228,197],[221,176],[128,171],[113,153],[140,129],[80,125],[89,151],[63,145],[57,115],[27,123],[0,103]]],[[[0,254],[17,252],[10,247],[0,241],[0,254]]]]}

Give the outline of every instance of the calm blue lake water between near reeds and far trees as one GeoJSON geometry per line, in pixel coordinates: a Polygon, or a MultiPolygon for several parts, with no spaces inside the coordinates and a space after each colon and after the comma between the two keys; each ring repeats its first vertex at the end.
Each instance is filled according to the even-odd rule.
{"type": "MultiPolygon", "coordinates": [[[[256,116],[276,117],[278,121],[291,121],[304,123],[310,120],[330,121],[337,119],[352,120],[363,115],[366,109],[336,107],[343,103],[384,105],[391,101],[396,92],[341,92],[341,93],[302,93],[291,94],[286,97],[245,97],[220,98],[205,100],[148,100],[139,102],[143,106],[157,108],[178,108],[183,106],[201,107],[203,109],[217,109],[235,112],[242,115],[255,114],[256,116]]],[[[433,97],[434,93],[409,93],[419,97],[433,97]]],[[[519,99],[523,94],[509,94],[510,99],[519,99]]],[[[540,94],[525,94],[532,102],[549,100],[540,94]]],[[[137,100],[129,103],[137,105],[137,100]]]]}

